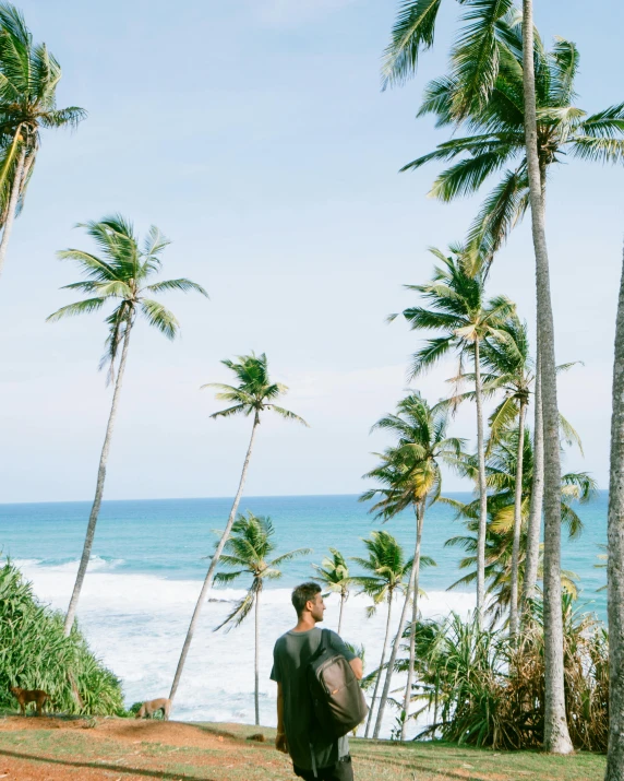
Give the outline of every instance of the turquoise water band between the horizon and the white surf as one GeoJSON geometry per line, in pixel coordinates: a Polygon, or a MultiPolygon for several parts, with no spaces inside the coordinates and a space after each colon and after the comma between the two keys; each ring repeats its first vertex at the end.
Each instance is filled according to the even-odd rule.
{"type": "MultiPolygon", "coordinates": [[[[467,500],[469,494],[455,494],[467,500]]],[[[170,499],[105,501],[97,526],[93,554],[101,563],[115,564],[115,571],[152,575],[169,580],[201,579],[214,548],[213,530],[223,529],[231,499],[170,499]]],[[[38,567],[58,567],[75,561],[82,552],[89,502],[0,505],[0,546],[14,559],[28,559],[38,567]]],[[[607,542],[607,492],[585,506],[577,506],[585,530],[579,540],[563,544],[563,566],[576,572],[581,602],[605,617],[605,593],[597,593],[605,581],[597,569],[598,545],[607,542]]],[[[312,575],[311,561],[320,563],[331,545],[346,556],[362,555],[361,537],[380,523],[367,512],[357,496],[249,497],[241,510],[269,516],[276,529],[277,553],[311,547],[313,554],[288,563],[284,578],[274,588],[291,587],[312,575]]],[[[436,567],[425,569],[425,590],[447,589],[459,576],[459,548],[445,547],[445,541],[463,533],[455,512],[436,505],[428,510],[423,531],[423,552],[436,567]]],[[[413,518],[403,513],[385,528],[411,548],[413,518]]],[[[269,587],[271,588],[271,587],[269,587]]],[[[466,590],[466,589],[464,589],[466,590]]]]}

